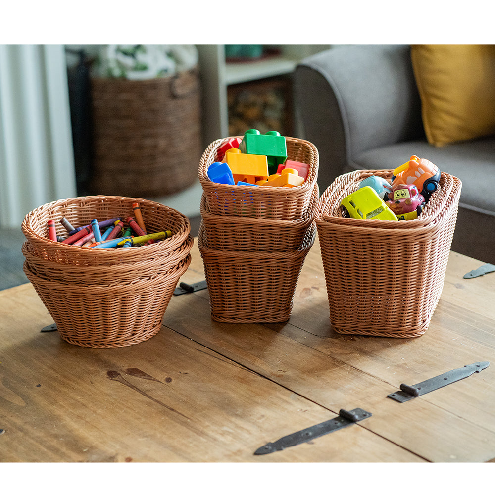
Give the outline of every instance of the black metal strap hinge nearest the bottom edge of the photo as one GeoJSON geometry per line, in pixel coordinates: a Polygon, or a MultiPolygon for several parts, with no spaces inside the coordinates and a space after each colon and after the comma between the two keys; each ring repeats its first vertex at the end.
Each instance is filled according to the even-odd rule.
{"type": "Polygon", "coordinates": [[[296,433],[291,433],[291,435],[282,437],[276,442],[269,442],[268,444],[259,447],[256,452],[254,452],[254,455],[269,454],[277,450],[283,450],[287,447],[292,447],[295,445],[303,444],[305,442],[309,442],[314,438],[321,437],[322,435],[326,435],[327,433],[336,430],[340,430],[341,428],[345,428],[346,426],[357,423],[358,421],[369,418],[370,416],[371,412],[367,412],[363,409],[360,409],[359,407],[356,409],[352,409],[352,411],[341,409],[339,411],[339,416],[333,419],[329,419],[328,421],[324,421],[323,423],[310,426],[309,428],[305,428],[304,430],[300,430],[296,433]]]}

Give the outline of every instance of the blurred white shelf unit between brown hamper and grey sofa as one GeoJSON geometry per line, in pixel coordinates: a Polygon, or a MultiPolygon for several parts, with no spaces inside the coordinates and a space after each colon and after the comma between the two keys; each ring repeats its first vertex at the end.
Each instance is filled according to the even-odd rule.
{"type": "Polygon", "coordinates": [[[278,45],[280,55],[260,60],[227,63],[225,45],[197,45],[203,91],[204,146],[228,136],[227,88],[293,72],[304,57],[330,48],[330,45],[278,45]]]}

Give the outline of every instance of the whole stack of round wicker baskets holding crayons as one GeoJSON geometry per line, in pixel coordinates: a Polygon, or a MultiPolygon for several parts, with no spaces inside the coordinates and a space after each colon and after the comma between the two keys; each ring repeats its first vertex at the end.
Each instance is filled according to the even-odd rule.
{"type": "Polygon", "coordinates": [[[53,201],[22,222],[24,272],[55,321],[61,337],[83,347],[123,347],[148,340],[161,327],[180,276],[187,270],[193,238],[189,219],[159,203],[139,198],[88,196],[53,201]],[[148,232],[171,230],[164,241],[127,249],[92,249],[51,241],[73,226],[132,216],[139,202],[148,232]]]}

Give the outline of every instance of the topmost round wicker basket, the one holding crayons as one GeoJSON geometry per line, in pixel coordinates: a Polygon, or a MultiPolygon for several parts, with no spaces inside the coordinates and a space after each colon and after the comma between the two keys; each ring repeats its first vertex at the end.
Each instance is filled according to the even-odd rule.
{"type": "Polygon", "coordinates": [[[57,263],[95,266],[135,264],[152,258],[161,263],[171,251],[182,246],[187,240],[191,232],[191,223],[179,211],[154,201],[119,196],[85,196],[59,199],[34,209],[25,216],[21,229],[29,242],[31,252],[36,256],[57,263]],[[132,204],[135,202],[140,204],[148,232],[170,230],[173,235],[159,243],[119,250],[69,246],[48,239],[49,219],[56,220],[57,235],[66,236],[67,232],[58,221],[61,217],[65,217],[74,227],[88,225],[93,218],[105,220],[121,217],[125,220],[133,216],[132,204]]]}

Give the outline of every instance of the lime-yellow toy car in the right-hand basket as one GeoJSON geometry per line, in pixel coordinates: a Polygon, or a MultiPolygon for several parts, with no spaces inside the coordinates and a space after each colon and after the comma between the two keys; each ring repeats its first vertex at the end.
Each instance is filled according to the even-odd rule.
{"type": "Polygon", "coordinates": [[[346,216],[358,220],[397,220],[394,212],[370,186],[359,188],[341,201],[346,216]]]}

